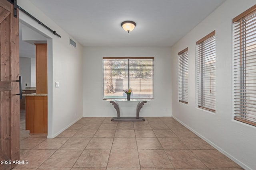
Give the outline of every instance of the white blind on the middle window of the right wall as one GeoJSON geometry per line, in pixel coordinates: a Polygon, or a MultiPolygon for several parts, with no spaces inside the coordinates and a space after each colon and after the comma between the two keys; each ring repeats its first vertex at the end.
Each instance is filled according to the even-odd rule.
{"type": "Polygon", "coordinates": [[[196,42],[196,87],[198,107],[215,112],[215,31],[196,42]]]}

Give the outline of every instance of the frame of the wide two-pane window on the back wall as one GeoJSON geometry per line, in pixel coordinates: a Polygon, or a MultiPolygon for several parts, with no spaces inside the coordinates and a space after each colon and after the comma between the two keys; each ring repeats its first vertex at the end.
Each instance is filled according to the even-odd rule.
{"type": "MultiPolygon", "coordinates": [[[[127,64],[127,71],[128,71],[128,77],[127,77],[127,81],[128,81],[128,88],[132,88],[132,87],[130,87],[130,76],[129,76],[129,60],[130,59],[132,59],[132,60],[136,60],[136,59],[138,59],[138,60],[142,60],[142,59],[152,59],[152,97],[149,97],[149,98],[136,98],[136,99],[154,99],[154,57],[103,57],[102,58],[102,64],[103,64],[103,66],[102,66],[102,69],[103,69],[103,71],[102,71],[102,73],[103,73],[103,83],[102,83],[102,85],[103,85],[103,90],[102,90],[102,98],[103,98],[103,100],[106,100],[106,99],[122,99],[122,98],[126,98],[126,96],[125,97],[117,97],[117,98],[104,98],[104,94],[105,94],[105,92],[104,92],[104,60],[106,60],[106,59],[116,59],[116,60],[127,60],[128,61],[128,64],[127,64]]],[[[125,89],[124,89],[125,90],[125,89]]]]}

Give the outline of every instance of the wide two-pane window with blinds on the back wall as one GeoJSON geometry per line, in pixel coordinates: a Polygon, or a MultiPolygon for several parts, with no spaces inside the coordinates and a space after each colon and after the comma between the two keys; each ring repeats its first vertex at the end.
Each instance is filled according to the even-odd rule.
{"type": "Polygon", "coordinates": [[[103,57],[103,98],[154,98],[154,57],[103,57]]]}

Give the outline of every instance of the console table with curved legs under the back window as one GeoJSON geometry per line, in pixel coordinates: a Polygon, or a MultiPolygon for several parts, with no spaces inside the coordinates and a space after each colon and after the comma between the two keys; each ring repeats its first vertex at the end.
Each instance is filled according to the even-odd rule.
{"type": "Polygon", "coordinates": [[[145,121],[144,117],[139,117],[140,109],[146,102],[151,101],[150,99],[107,99],[106,101],[110,102],[116,109],[117,117],[113,117],[111,121],[145,121]],[[136,117],[120,117],[120,109],[118,102],[139,102],[136,109],[136,117]]]}

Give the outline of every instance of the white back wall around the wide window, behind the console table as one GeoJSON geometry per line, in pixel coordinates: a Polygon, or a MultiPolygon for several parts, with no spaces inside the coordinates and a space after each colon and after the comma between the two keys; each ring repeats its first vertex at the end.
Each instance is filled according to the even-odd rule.
{"type": "MultiPolygon", "coordinates": [[[[114,107],[102,100],[102,57],[155,57],[154,97],[140,111],[140,116],[171,116],[170,47],[85,47],[84,116],[116,116],[114,107]]],[[[135,116],[136,102],[119,103],[121,116],[135,116]]]]}

